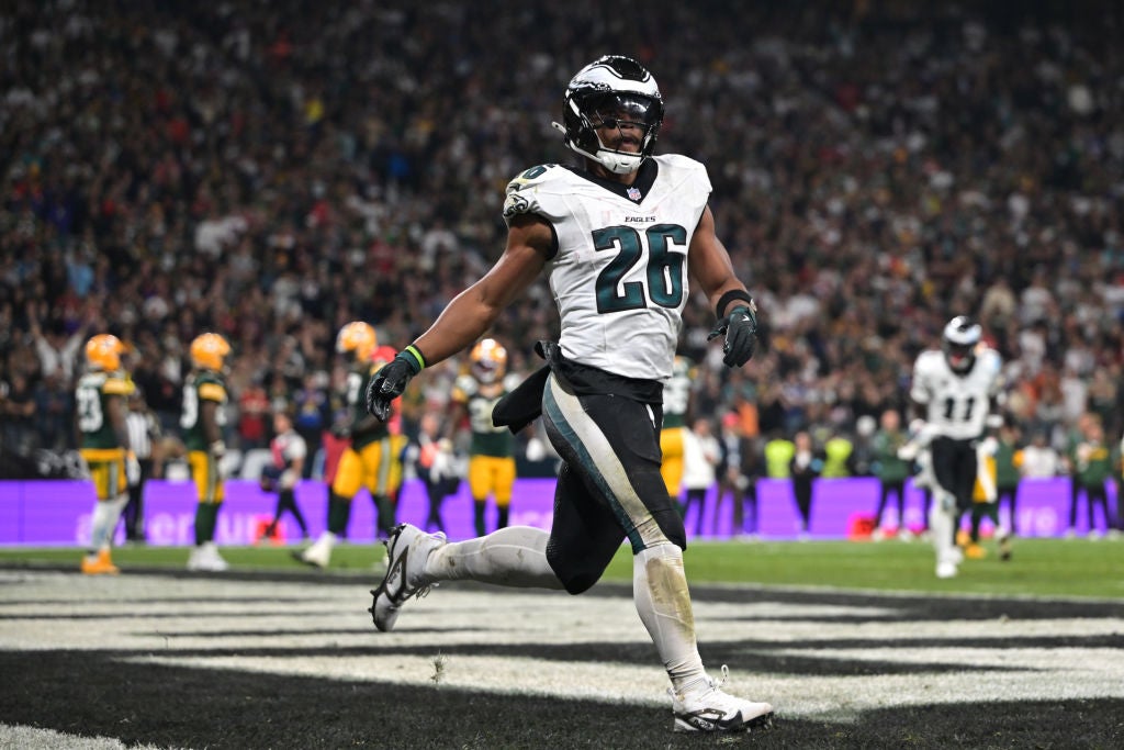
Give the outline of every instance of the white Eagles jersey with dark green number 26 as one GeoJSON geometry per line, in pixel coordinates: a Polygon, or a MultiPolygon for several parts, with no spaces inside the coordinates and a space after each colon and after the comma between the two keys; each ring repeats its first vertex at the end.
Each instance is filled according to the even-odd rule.
{"type": "Polygon", "coordinates": [[[687,251],[709,195],[706,168],[679,155],[650,159],[631,188],[558,164],[511,180],[505,219],[541,216],[558,237],[546,272],[566,359],[628,378],[671,377],[687,251]]]}

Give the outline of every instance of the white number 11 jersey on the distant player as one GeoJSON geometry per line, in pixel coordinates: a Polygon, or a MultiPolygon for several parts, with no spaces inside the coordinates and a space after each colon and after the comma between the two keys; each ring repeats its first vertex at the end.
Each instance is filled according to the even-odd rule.
{"type": "Polygon", "coordinates": [[[925,404],[925,422],[935,434],[971,440],[984,434],[991,397],[999,391],[1003,362],[992,349],[976,354],[972,369],[961,374],[949,367],[944,352],[922,352],[914,363],[909,397],[925,404]]]}

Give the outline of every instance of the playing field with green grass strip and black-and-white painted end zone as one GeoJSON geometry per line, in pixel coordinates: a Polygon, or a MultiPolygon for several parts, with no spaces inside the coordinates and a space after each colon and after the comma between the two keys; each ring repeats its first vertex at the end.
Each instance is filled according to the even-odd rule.
{"type": "Polygon", "coordinates": [[[373,548],[0,551],[0,747],[1121,748],[1124,541],[1018,540],[939,581],[919,542],[695,543],[699,649],[777,710],[671,732],[623,551],[580,597],[446,584],[373,630],[373,548]],[[37,729],[29,729],[37,728],[37,729]]]}

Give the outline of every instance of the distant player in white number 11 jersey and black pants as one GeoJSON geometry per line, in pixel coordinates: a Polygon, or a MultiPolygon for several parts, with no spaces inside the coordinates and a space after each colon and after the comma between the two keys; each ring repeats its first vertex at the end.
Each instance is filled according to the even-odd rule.
{"type": "Polygon", "coordinates": [[[957,575],[961,552],[955,533],[972,504],[978,469],[977,444],[989,425],[1001,423],[998,352],[981,343],[982,328],[960,315],[944,326],[941,350],[922,352],[914,363],[915,422],[910,432],[928,445],[933,505],[930,531],[936,549],[936,575],[957,575]]]}

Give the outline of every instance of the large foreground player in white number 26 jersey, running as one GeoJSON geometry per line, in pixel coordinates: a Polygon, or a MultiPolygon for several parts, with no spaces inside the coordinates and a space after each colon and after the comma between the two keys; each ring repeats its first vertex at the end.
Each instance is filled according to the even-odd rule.
{"type": "Polygon", "coordinates": [[[514,431],[542,414],[562,458],[551,531],[510,526],[450,543],[399,526],[373,591],[374,624],[390,630],[400,607],[438,581],[581,594],[627,539],[636,609],[671,679],[673,728],[765,726],[771,705],[725,693],[704,669],[683,572],[683,522],[660,476],[663,382],[688,275],[715,308],[713,335],[725,337],[728,367],[753,355],[755,306],[715,235],[706,168],[653,155],[663,99],[652,74],[629,57],[601,57],[570,81],[563,108],[564,124],[555,127],[582,166],[544,164],[511,180],[499,261],[366,391],[368,409],[384,418],[413,377],[470,346],[545,272],[561,341],[540,342],[549,364],[501,400],[493,419],[514,431]]]}

